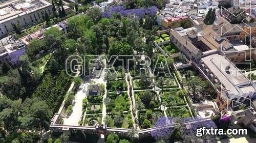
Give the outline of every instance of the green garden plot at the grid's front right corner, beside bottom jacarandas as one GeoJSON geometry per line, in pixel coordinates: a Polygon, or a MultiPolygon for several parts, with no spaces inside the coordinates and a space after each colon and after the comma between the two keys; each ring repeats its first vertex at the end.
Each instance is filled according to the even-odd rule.
{"type": "Polygon", "coordinates": [[[166,110],[167,117],[180,117],[180,118],[188,118],[192,117],[189,113],[188,107],[182,106],[182,107],[168,107],[166,110]]]}

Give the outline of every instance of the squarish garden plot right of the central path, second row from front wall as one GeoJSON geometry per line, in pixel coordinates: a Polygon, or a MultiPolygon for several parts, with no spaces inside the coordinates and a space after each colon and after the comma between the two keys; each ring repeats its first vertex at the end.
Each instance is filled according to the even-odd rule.
{"type": "Polygon", "coordinates": [[[140,109],[143,108],[159,108],[160,102],[157,94],[154,91],[135,91],[134,92],[135,101],[137,106],[143,104],[140,109]]]}

